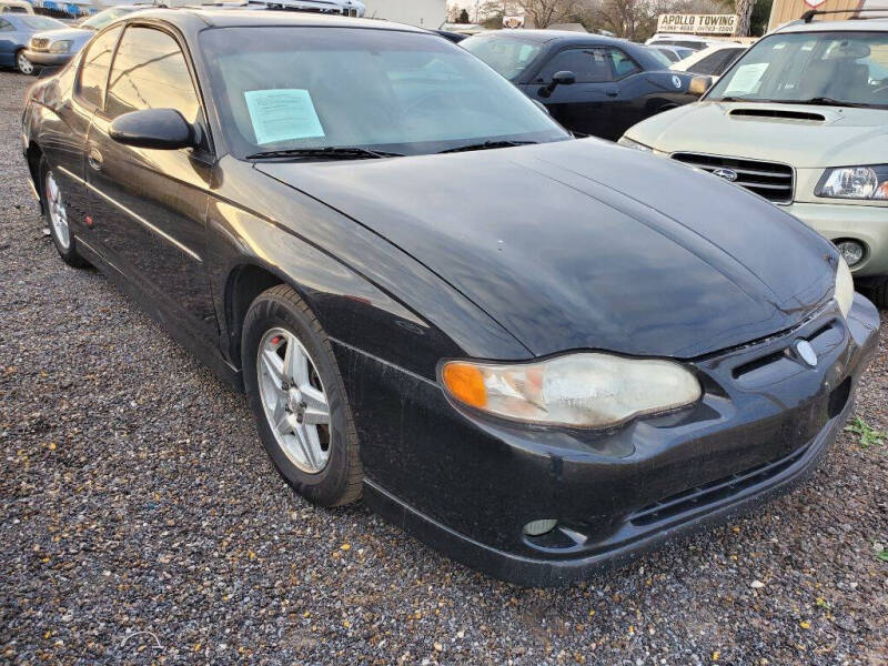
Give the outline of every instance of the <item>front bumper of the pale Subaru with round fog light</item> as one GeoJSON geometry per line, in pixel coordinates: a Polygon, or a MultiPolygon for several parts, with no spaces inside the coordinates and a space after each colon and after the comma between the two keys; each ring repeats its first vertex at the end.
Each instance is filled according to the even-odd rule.
{"type": "Polygon", "coordinates": [[[851,268],[855,276],[888,275],[888,208],[798,202],[781,208],[830,241],[862,242],[866,255],[851,268]]]}

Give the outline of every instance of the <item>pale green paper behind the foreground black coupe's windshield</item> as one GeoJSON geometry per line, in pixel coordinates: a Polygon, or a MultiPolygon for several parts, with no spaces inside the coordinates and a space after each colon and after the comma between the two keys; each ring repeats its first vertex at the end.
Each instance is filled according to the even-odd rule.
{"type": "Polygon", "coordinates": [[[248,90],[243,95],[260,145],[324,135],[307,90],[248,90]]]}

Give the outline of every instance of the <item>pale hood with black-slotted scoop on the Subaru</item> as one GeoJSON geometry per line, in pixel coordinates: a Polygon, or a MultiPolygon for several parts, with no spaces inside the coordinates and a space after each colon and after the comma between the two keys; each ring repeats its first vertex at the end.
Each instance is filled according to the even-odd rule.
{"type": "Polygon", "coordinates": [[[797,169],[872,164],[888,154],[888,111],[704,101],[648,118],[626,135],[667,153],[705,152],[797,169]]]}

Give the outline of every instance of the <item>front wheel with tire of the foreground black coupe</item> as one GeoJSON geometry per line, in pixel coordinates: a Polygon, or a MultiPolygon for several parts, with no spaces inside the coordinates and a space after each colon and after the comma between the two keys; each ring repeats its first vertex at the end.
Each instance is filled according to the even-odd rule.
{"type": "Polygon", "coordinates": [[[333,347],[292,287],[273,286],[253,301],[241,359],[259,434],[284,480],[321,506],[357,500],[363,468],[333,347]]]}

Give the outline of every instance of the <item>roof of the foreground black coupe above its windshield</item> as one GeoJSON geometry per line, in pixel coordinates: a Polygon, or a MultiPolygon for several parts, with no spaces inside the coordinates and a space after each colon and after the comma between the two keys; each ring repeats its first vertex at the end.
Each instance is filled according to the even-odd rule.
{"type": "Polygon", "coordinates": [[[178,28],[193,29],[195,22],[213,28],[262,28],[269,26],[294,26],[319,28],[364,28],[375,30],[392,30],[406,32],[427,32],[413,26],[392,23],[377,19],[356,19],[339,14],[323,14],[306,11],[266,9],[262,11],[251,9],[215,9],[183,7],[175,9],[145,9],[139,12],[137,19],[161,19],[178,28]]]}

